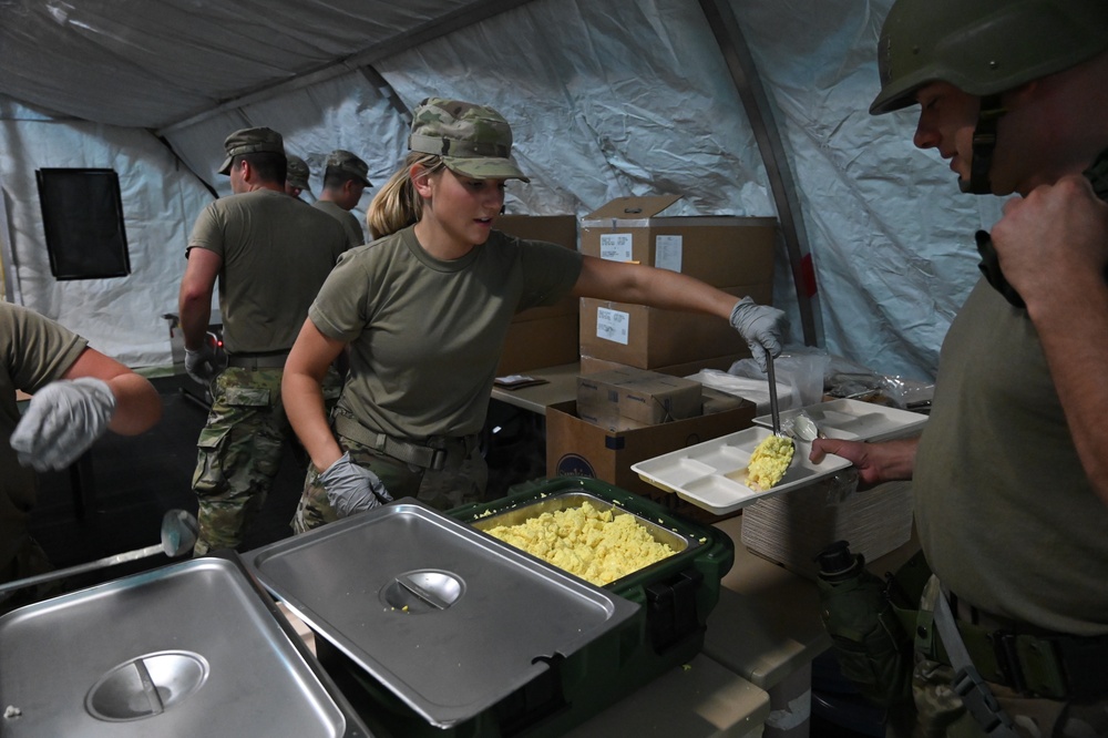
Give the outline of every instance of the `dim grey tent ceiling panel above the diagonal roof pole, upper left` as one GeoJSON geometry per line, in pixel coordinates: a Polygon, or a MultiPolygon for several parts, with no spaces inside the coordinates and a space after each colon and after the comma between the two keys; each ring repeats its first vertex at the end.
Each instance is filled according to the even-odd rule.
{"type": "Polygon", "coordinates": [[[0,89],[88,121],[162,129],[483,4],[3,0],[0,89]]]}

